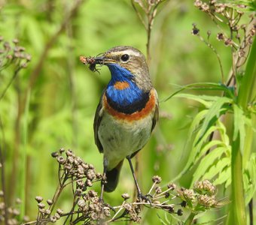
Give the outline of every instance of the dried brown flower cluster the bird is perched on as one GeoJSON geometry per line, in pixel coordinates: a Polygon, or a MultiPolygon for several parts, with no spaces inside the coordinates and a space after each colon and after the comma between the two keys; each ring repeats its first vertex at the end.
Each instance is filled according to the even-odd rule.
{"type": "MultiPolygon", "coordinates": [[[[46,201],[42,196],[36,196],[36,220],[24,224],[47,224],[59,220],[62,224],[107,224],[117,220],[139,223],[142,220],[142,206],[181,216],[184,208],[198,214],[220,205],[215,196],[216,187],[207,180],[197,182],[194,189],[178,188],[175,184],[168,184],[162,190],[162,180],[157,175],[152,178],[153,184],[146,194],[148,200],[136,199],[136,202],[129,202],[129,194],[123,193],[120,198],[123,199],[121,205],[108,205],[107,202],[100,200],[98,193],[93,190],[93,185],[101,181],[102,175],[95,171],[92,164],[85,163],[72,150],[66,151],[63,148],[53,152],[52,157],[59,164],[59,184],[56,193],[52,199],[46,201]],[[57,208],[57,205],[62,190],[68,186],[72,187],[71,208],[69,211],[63,211],[57,208]]],[[[2,217],[4,218],[4,215],[2,217]]]]}

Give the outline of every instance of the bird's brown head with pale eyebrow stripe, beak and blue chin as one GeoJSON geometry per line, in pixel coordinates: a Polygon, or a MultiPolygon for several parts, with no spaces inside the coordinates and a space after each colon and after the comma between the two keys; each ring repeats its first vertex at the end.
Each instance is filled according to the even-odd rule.
{"type": "Polygon", "coordinates": [[[130,80],[140,89],[152,87],[145,56],[132,46],[115,46],[94,60],[96,64],[108,66],[113,82],[130,80]]]}

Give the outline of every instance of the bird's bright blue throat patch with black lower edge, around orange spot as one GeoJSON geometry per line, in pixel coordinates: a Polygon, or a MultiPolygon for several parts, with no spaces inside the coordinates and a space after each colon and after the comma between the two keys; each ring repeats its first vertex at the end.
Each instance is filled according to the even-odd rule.
{"type": "Polygon", "coordinates": [[[106,89],[108,104],[121,113],[131,114],[142,110],[148,102],[149,92],[139,89],[134,82],[134,75],[120,65],[111,64],[108,68],[111,71],[111,80],[106,89]],[[116,89],[114,84],[117,82],[125,82],[129,87],[116,89]]]}

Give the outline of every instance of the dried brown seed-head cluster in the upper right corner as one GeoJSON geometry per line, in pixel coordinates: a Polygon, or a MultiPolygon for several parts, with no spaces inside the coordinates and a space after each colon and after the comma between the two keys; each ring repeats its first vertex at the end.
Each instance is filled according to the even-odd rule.
{"type": "MultiPolygon", "coordinates": [[[[231,79],[233,79],[239,72],[239,68],[245,64],[250,46],[255,36],[255,13],[251,13],[249,18],[241,20],[245,15],[245,10],[249,10],[249,6],[237,3],[219,3],[216,0],[210,1],[194,1],[195,7],[207,13],[215,25],[218,27],[219,32],[216,36],[217,40],[224,43],[224,46],[229,46],[232,49],[233,56],[233,70],[231,79]],[[245,23],[246,21],[246,23],[245,23]]],[[[216,49],[209,41],[211,31],[207,31],[207,40],[200,35],[200,29],[196,24],[193,24],[192,34],[200,37],[217,55],[218,62],[221,67],[222,82],[224,83],[224,73],[221,65],[220,56],[216,49]]],[[[230,81],[227,82],[229,85],[230,81]]]]}

